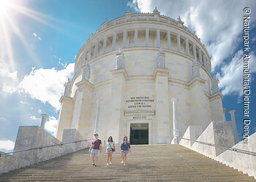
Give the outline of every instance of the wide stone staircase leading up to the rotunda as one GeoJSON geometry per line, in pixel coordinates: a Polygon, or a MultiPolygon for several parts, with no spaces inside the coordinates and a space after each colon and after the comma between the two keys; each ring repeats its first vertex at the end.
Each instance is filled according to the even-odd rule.
{"type": "Polygon", "coordinates": [[[89,149],[0,175],[0,181],[255,181],[180,145],[132,146],[121,165],[119,146],[106,166],[105,147],[92,167],[89,149]]]}

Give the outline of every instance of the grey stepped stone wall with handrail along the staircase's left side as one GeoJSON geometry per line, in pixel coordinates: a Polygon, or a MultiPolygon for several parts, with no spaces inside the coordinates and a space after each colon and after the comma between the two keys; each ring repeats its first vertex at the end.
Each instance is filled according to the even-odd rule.
{"type": "Polygon", "coordinates": [[[83,135],[75,129],[64,130],[63,141],[54,138],[41,127],[20,127],[18,136],[16,138],[15,149],[13,151],[21,151],[26,149],[40,148],[43,146],[50,146],[42,149],[34,149],[30,151],[21,151],[12,155],[4,154],[0,157],[0,174],[7,173],[10,170],[19,169],[28,165],[34,165],[38,162],[43,162],[48,159],[60,157],[64,154],[69,154],[74,151],[89,148],[89,141],[85,140],[83,135]],[[82,141],[78,143],[71,143],[74,141],[82,141]],[[63,143],[70,143],[61,145],[63,143]],[[51,146],[59,144],[59,146],[51,146]]]}

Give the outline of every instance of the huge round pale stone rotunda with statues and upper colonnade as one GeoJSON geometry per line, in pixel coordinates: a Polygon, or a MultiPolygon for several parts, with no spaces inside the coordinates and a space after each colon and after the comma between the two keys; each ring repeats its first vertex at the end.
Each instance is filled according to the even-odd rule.
{"type": "Polygon", "coordinates": [[[200,39],[178,17],[153,13],[105,20],[78,52],[65,84],[57,138],[74,128],[121,143],[177,143],[189,125],[225,121],[218,80],[200,39]]]}

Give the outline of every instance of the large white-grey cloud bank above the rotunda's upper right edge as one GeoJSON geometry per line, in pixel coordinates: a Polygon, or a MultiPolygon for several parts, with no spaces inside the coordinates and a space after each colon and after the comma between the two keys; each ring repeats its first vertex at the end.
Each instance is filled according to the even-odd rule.
{"type": "MultiPolygon", "coordinates": [[[[141,12],[153,12],[155,6],[162,15],[177,18],[181,15],[185,25],[206,44],[211,55],[213,71],[222,66],[222,61],[236,52],[243,28],[243,8],[256,8],[254,1],[132,1],[141,12]]],[[[255,17],[251,12],[251,17],[255,17]]],[[[252,22],[251,22],[252,23],[252,22]]]]}

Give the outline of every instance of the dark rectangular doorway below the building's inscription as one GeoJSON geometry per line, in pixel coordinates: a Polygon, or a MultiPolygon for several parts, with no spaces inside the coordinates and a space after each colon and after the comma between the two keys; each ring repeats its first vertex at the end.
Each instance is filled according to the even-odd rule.
{"type": "Polygon", "coordinates": [[[148,123],[131,124],[129,142],[131,145],[148,144],[148,123]]]}

